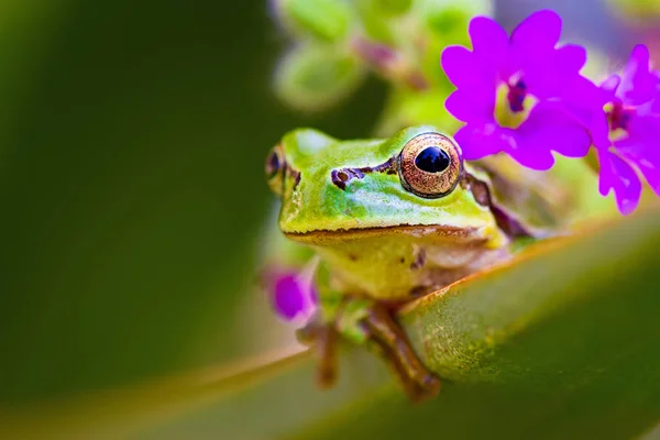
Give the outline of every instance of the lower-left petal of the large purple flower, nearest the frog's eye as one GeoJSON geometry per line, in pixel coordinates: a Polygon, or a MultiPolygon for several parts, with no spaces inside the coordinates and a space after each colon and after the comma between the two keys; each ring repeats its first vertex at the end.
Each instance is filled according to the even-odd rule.
{"type": "Polygon", "coordinates": [[[503,152],[509,142],[505,130],[495,123],[468,124],[454,134],[454,139],[466,161],[476,161],[503,152]]]}

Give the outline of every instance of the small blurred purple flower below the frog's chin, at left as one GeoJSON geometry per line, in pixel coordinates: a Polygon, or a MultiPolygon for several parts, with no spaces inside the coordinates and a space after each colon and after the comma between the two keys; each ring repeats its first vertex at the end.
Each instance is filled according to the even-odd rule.
{"type": "Polygon", "coordinates": [[[316,311],[317,292],[312,283],[294,272],[279,272],[270,279],[271,304],[286,321],[307,321],[316,311]]]}

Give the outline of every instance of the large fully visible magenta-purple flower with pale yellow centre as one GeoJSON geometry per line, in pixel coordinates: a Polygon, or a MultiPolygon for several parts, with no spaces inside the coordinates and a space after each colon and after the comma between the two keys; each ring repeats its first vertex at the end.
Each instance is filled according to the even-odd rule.
{"type": "Polygon", "coordinates": [[[473,51],[449,46],[442,67],[457,90],[447,99],[450,113],[466,124],[454,135],[466,160],[506,152],[521,165],[548,169],[552,151],[586,155],[591,139],[566,102],[591,98],[591,82],[580,76],[586,52],[557,48],[561,19],[536,12],[510,37],[494,20],[470,22],[473,51]]]}

